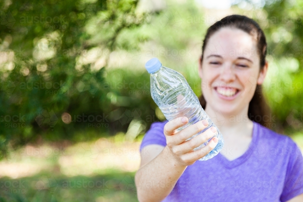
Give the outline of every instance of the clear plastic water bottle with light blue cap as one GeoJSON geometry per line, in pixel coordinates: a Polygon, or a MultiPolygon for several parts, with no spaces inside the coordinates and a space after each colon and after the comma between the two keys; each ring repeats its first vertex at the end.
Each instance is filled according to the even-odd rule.
{"type": "MultiPolygon", "coordinates": [[[[185,78],[177,71],[163,67],[158,58],[152,58],[147,61],[145,68],[151,74],[151,97],[163,112],[165,118],[168,121],[182,116],[188,118],[188,123],[179,127],[177,131],[181,131],[185,127],[204,119],[208,121],[208,127],[188,138],[188,140],[206,131],[209,127],[217,128],[217,133],[213,137],[218,137],[218,144],[205,157],[199,160],[206,161],[217,155],[224,145],[222,134],[201,107],[198,97],[192,91],[185,78]]],[[[205,147],[211,138],[194,150],[205,147]]]]}

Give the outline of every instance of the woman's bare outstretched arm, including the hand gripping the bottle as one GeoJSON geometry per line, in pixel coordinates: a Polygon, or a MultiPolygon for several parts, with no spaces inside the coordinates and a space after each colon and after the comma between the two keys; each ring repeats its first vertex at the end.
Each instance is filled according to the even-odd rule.
{"type": "Polygon", "coordinates": [[[212,127],[189,141],[189,137],[197,134],[208,126],[206,121],[186,127],[182,131],[175,130],[188,122],[176,118],[165,124],[164,134],[167,145],[148,145],[141,153],[141,166],[135,175],[138,200],[161,201],[172,191],[180,176],[188,165],[195,163],[215,148],[218,138],[214,137],[207,146],[193,151],[195,147],[213,137],[216,130],[212,127]]]}

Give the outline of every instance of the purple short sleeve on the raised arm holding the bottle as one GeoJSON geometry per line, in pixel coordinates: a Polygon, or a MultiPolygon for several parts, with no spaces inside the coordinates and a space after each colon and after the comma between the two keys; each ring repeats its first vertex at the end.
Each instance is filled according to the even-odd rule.
{"type": "Polygon", "coordinates": [[[162,146],[166,146],[166,138],[164,135],[164,126],[168,121],[163,122],[154,122],[151,124],[150,129],[145,133],[142,143],[140,145],[140,152],[143,147],[149,144],[159,144],[162,146]]]}

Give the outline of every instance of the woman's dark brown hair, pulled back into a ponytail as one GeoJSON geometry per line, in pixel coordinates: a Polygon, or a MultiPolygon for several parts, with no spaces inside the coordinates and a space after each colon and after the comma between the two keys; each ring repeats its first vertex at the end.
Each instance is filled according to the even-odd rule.
{"type": "MultiPolygon", "coordinates": [[[[226,16],[225,18],[222,18],[220,21],[211,25],[207,29],[202,46],[202,55],[200,58],[201,62],[203,60],[203,53],[209,38],[211,37],[211,35],[213,35],[216,31],[218,31],[221,28],[237,28],[242,31],[245,31],[246,33],[250,34],[255,38],[255,40],[258,42],[257,50],[258,50],[258,55],[260,57],[260,71],[261,71],[264,68],[265,57],[267,53],[267,43],[266,43],[265,35],[257,22],[243,15],[226,16]]],[[[206,101],[203,94],[201,94],[201,96],[199,97],[199,101],[202,108],[205,108],[206,101]]],[[[257,85],[255,94],[252,97],[251,101],[249,102],[248,118],[252,121],[262,124],[265,127],[271,128],[270,120],[268,120],[269,118],[265,118],[266,115],[269,116],[269,114],[270,114],[270,109],[263,96],[262,85],[257,85]]]]}

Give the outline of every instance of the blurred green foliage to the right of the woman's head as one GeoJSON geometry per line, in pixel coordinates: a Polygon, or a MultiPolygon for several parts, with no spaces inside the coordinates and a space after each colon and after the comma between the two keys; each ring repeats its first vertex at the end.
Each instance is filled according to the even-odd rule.
{"type": "Polygon", "coordinates": [[[265,81],[277,123],[302,131],[303,18],[301,1],[277,1],[264,8],[270,68],[265,81]],[[293,118],[297,123],[293,123],[293,118]],[[293,127],[290,127],[293,128],[293,127]]]}

